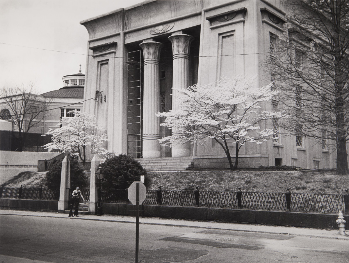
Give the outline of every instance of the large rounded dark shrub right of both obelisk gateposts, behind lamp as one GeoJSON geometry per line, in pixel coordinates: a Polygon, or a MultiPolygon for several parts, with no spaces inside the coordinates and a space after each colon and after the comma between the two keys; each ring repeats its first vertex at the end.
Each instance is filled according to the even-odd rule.
{"type": "Polygon", "coordinates": [[[101,163],[101,168],[104,174],[101,184],[104,189],[126,189],[147,173],[138,161],[125,154],[106,159],[101,163]]]}

